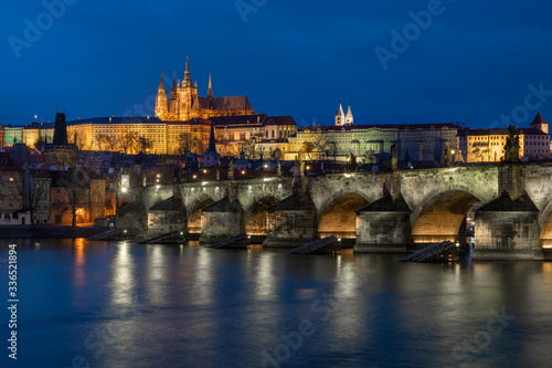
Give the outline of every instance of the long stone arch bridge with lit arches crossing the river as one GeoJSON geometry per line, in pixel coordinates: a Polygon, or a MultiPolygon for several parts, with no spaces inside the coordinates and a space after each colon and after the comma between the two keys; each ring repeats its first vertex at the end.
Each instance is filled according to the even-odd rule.
{"type": "Polygon", "coordinates": [[[473,257],[538,260],[552,248],[551,176],[550,164],[512,164],[267,177],[151,186],[141,201],[150,232],[181,229],[212,242],[245,231],[265,246],[335,234],[357,252],[464,246],[466,214],[481,202],[473,257]]]}

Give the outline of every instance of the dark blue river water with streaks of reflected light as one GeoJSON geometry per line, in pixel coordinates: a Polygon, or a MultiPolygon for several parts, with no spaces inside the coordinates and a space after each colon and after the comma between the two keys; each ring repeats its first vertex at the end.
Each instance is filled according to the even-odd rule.
{"type": "Polygon", "coordinates": [[[399,263],[197,243],[18,252],[1,367],[550,367],[552,263],[399,263]]]}

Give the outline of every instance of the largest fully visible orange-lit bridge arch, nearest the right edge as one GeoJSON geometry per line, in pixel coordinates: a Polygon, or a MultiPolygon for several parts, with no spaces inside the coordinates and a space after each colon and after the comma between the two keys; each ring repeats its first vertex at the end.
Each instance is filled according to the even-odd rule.
{"type": "Polygon", "coordinates": [[[449,186],[426,196],[411,213],[412,240],[414,243],[434,243],[444,240],[465,241],[468,210],[476,202],[486,202],[469,188],[449,186]]]}

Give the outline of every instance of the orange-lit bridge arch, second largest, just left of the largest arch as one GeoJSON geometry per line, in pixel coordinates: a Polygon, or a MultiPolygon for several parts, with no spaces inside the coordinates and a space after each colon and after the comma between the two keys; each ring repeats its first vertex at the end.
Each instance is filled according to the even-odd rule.
{"type": "Polygon", "coordinates": [[[368,203],[369,198],[357,190],[341,190],[335,193],[318,211],[318,234],[355,239],[357,210],[368,203]]]}

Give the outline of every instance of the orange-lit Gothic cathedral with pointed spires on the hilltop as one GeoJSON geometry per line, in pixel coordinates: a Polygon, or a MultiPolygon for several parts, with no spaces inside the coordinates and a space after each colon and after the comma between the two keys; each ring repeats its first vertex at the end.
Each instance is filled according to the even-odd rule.
{"type": "Polygon", "coordinates": [[[211,75],[209,75],[208,96],[198,95],[198,82],[192,83],[190,61],[185,62],[184,80],[177,83],[172,78],[170,96],[164,88],[163,75],[156,98],[156,117],[161,120],[208,119],[212,116],[236,116],[255,114],[247,96],[213,97],[211,75]]]}

